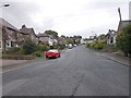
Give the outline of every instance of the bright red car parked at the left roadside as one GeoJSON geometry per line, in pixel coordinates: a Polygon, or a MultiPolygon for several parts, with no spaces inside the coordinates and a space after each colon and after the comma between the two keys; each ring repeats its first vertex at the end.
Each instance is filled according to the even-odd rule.
{"type": "Polygon", "coordinates": [[[48,50],[46,51],[46,58],[59,58],[60,57],[60,52],[58,50],[48,50]]]}

